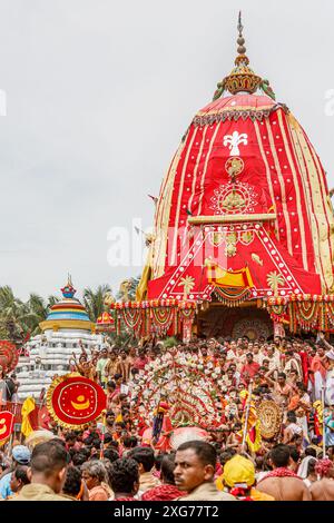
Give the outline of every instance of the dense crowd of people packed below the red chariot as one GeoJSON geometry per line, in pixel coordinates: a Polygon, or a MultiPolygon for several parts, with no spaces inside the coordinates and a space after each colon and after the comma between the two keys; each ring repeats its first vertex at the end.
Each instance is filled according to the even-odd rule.
{"type": "Polygon", "coordinates": [[[105,346],[91,354],[81,347],[70,368],[104,387],[105,423],[97,420],[73,431],[51,421],[49,441],[33,448],[14,442],[11,455],[1,455],[0,497],[334,500],[334,349],[324,335],[317,341],[276,336],[252,342],[245,336],[176,345],[175,353],[196,354],[197,361],[222,369],[220,424],[207,441],[161,451],[155,440],[144,441],[145,426],[136,423],[130,399],[140,372],[167,351],[164,342],[105,346]],[[276,436],[263,438],[256,452],[243,438],[239,393],[249,387],[255,405],[274,401],[282,412],[276,436]]]}

